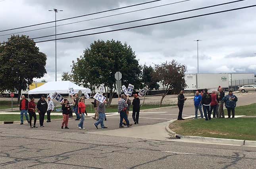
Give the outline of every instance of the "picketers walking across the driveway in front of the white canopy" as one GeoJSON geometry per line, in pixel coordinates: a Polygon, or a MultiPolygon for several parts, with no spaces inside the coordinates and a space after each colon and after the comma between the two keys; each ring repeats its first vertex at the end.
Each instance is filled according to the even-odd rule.
{"type": "MultiPolygon", "coordinates": [[[[31,97],[30,102],[25,98],[24,95],[21,97],[19,104],[20,109],[20,115],[21,115],[21,125],[23,125],[23,116],[25,115],[27,122],[30,125],[30,128],[37,128],[36,122],[37,122],[37,115],[36,111],[39,114],[39,123],[40,127],[44,127],[44,116],[47,113],[47,123],[51,122],[50,114],[54,110],[54,103],[52,102],[50,96],[47,97],[47,101],[44,95],[41,96],[41,98],[38,100],[37,105],[35,104],[35,98],[31,97]],[[29,118],[27,113],[29,113],[29,118]],[[32,119],[34,118],[33,126],[31,124],[32,119]]],[[[69,122],[69,115],[75,112],[76,115],[76,121],[79,121],[79,124],[77,127],[79,129],[85,129],[84,121],[85,121],[85,115],[87,115],[86,111],[86,105],[85,105],[85,98],[80,97],[78,94],[75,94],[75,96],[72,96],[73,98],[73,109],[71,109],[71,106],[69,104],[69,101],[67,99],[64,99],[62,104],[62,115],[63,120],[61,124],[61,129],[69,129],[68,122],[69,122]]],[[[98,125],[100,125],[101,129],[106,129],[104,125],[104,121],[107,120],[106,118],[106,100],[104,102],[99,102],[97,100],[94,100],[92,104],[94,105],[94,111],[95,115],[92,117],[96,120],[96,122],[93,124],[96,129],[98,129],[98,125]]],[[[124,125],[127,127],[131,127],[133,124],[131,124],[128,120],[129,115],[129,109],[131,104],[133,105],[133,121],[134,124],[139,124],[139,112],[140,112],[140,99],[137,94],[134,94],[133,102],[131,102],[129,96],[125,96],[124,94],[121,94],[121,98],[119,98],[118,101],[118,108],[117,111],[120,114],[120,121],[119,121],[119,127],[122,128],[124,125]]]]}

